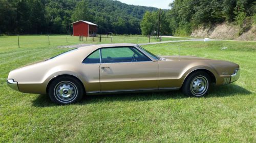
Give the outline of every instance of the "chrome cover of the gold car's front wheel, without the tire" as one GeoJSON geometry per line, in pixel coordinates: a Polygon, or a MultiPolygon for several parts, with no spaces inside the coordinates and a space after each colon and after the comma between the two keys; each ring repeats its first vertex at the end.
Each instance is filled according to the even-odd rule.
{"type": "Polygon", "coordinates": [[[199,75],[195,77],[190,84],[190,91],[195,96],[202,96],[208,89],[208,80],[206,77],[199,75]]]}

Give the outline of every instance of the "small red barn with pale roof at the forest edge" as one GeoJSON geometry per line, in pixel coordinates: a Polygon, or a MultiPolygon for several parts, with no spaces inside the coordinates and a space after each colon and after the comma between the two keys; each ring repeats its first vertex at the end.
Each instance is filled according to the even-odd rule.
{"type": "Polygon", "coordinates": [[[79,20],[73,22],[73,36],[96,36],[97,26],[96,24],[88,21],[79,20]]]}

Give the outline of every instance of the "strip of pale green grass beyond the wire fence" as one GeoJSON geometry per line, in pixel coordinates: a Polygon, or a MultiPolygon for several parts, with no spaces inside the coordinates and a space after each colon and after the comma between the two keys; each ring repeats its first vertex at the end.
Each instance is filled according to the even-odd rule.
{"type": "MultiPolygon", "coordinates": [[[[106,36],[104,36],[106,37],[106,36]]],[[[173,41],[173,40],[186,40],[184,38],[162,38],[163,41],[173,41]]],[[[144,36],[113,36],[113,43],[148,43],[148,38],[144,36]]],[[[151,38],[150,42],[157,42],[154,38],[151,38]]],[[[23,35],[19,36],[19,46],[20,48],[41,48],[41,47],[55,47],[62,45],[73,45],[82,43],[95,43],[104,44],[111,43],[111,38],[102,38],[101,42],[96,38],[94,42],[79,41],[78,36],[70,35],[23,35]],[[48,39],[49,38],[49,39],[48,39]],[[50,41],[50,42],[49,42],[50,41]],[[50,43],[50,44],[49,44],[50,43]]],[[[17,36],[0,36],[0,48],[4,49],[18,48],[18,37],[17,36]]]]}

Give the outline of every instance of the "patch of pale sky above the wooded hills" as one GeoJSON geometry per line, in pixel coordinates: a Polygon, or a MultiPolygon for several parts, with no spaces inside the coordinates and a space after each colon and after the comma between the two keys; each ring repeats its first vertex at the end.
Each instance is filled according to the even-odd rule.
{"type": "Polygon", "coordinates": [[[170,9],[168,7],[169,3],[172,3],[174,0],[118,0],[122,3],[135,5],[135,6],[147,6],[155,7],[159,9],[170,9]]]}

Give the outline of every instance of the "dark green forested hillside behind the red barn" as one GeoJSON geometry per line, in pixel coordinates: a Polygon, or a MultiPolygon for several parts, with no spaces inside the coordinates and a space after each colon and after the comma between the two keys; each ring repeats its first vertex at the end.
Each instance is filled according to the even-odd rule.
{"type": "Polygon", "coordinates": [[[77,20],[98,24],[100,34],[141,34],[144,13],[156,10],[113,0],[0,0],[0,34],[72,34],[77,20]]]}

